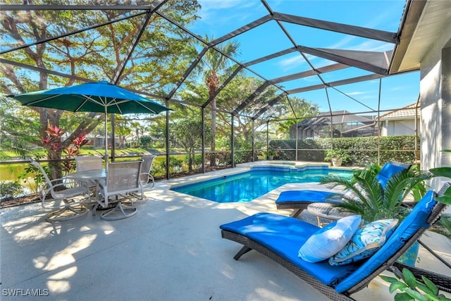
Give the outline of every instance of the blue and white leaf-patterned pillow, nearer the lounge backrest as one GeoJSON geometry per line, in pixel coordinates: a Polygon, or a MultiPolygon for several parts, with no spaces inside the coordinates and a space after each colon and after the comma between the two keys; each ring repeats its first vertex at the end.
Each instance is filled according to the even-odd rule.
{"type": "Polygon", "coordinates": [[[329,258],[329,264],[340,266],[370,257],[395,231],[397,219],[382,219],[361,226],[345,247],[329,258]]]}

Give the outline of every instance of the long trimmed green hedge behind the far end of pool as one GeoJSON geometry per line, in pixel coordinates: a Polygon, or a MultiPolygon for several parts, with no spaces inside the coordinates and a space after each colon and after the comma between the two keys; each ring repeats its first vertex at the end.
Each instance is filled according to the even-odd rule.
{"type": "MultiPolygon", "coordinates": [[[[419,142],[419,138],[418,138],[419,142]]],[[[276,159],[296,159],[296,140],[271,140],[270,149],[278,150],[276,159]]],[[[419,143],[418,143],[419,147],[419,143]]],[[[298,161],[326,161],[326,149],[342,149],[349,152],[352,161],[347,165],[366,166],[378,163],[378,149],[380,149],[380,164],[388,161],[399,161],[415,164],[415,136],[385,136],[385,137],[352,137],[352,138],[323,138],[297,140],[298,161]]],[[[419,149],[418,149],[419,154],[419,149]]]]}

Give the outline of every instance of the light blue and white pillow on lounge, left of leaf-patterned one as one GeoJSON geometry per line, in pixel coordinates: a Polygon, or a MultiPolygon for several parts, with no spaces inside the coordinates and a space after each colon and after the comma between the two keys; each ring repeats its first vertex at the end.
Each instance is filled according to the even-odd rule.
{"type": "Polygon", "coordinates": [[[329,223],[311,235],[299,249],[299,257],[306,262],[321,262],[342,250],[359,229],[362,216],[346,216],[329,223]]]}

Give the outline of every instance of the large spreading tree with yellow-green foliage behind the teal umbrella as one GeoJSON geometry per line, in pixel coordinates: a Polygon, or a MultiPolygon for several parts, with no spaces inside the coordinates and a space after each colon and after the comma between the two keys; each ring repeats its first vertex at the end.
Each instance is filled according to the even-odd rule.
{"type": "MultiPolygon", "coordinates": [[[[52,4],[54,1],[45,0],[44,4],[47,2],[52,4]]],[[[142,2],[147,4],[147,1],[142,2]]],[[[81,0],[71,2],[71,4],[83,3],[81,0]]],[[[27,0],[27,4],[33,4],[33,0],[27,0]]],[[[161,11],[178,23],[187,25],[197,18],[195,13],[199,7],[194,0],[173,1],[171,5],[162,7],[161,11]]],[[[114,83],[123,82],[124,87],[132,86],[137,90],[163,92],[163,85],[180,79],[185,71],[186,61],[192,60],[194,51],[190,39],[181,30],[174,32],[170,23],[154,14],[144,30],[140,43],[122,69],[125,54],[128,53],[130,43],[140,30],[143,17],[136,16],[101,27],[94,26],[105,23],[106,20],[118,20],[128,16],[129,11],[1,11],[0,34],[4,39],[11,41],[11,48],[26,45],[30,41],[38,42],[33,47],[2,54],[2,58],[40,68],[38,72],[1,63],[1,92],[15,94],[68,86],[73,85],[77,78],[107,79],[114,83]],[[93,28],[77,32],[80,28],[87,27],[93,28]],[[166,35],[169,30],[171,35],[166,35]],[[76,33],[39,43],[69,32],[76,33]],[[167,68],[156,68],[161,63],[167,68]],[[65,73],[67,78],[56,76],[51,71],[65,73]]],[[[4,97],[0,101],[2,107],[12,102],[4,97]]],[[[47,135],[45,130],[49,125],[64,128],[61,123],[65,123],[65,112],[43,108],[32,110],[37,114],[39,121],[38,123],[35,123],[35,119],[27,121],[37,130],[37,134],[32,136],[33,144],[41,145],[39,137],[47,135]]],[[[51,154],[48,153],[47,158],[60,159],[64,147],[70,145],[75,137],[90,133],[103,120],[102,114],[87,113],[71,130],[70,135],[64,137],[61,148],[51,154]]],[[[17,130],[16,127],[11,131],[17,130]]],[[[5,137],[13,136],[4,135],[5,137]]],[[[58,171],[56,166],[51,166],[51,177],[61,178],[61,171],[58,171]]]]}

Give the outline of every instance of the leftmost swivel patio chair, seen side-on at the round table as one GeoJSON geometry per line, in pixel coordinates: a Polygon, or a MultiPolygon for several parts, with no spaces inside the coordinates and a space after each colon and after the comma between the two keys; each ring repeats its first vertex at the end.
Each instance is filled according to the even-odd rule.
{"type": "Polygon", "coordinates": [[[79,185],[74,180],[63,178],[50,180],[41,164],[37,161],[31,161],[31,164],[39,168],[45,179],[44,185],[39,190],[39,199],[41,199],[42,207],[44,209],[54,209],[55,207],[58,208],[58,206],[61,207],[61,203],[58,205],[58,201],[63,202],[63,207],[46,215],[46,221],[50,223],[54,221],[68,221],[87,214],[87,208],[85,208],[84,204],[91,201],[87,187],[79,185]],[[51,199],[47,198],[49,194],[51,199]],[[51,200],[54,200],[54,202],[51,202],[53,204],[52,207],[49,206],[51,200]]]}

